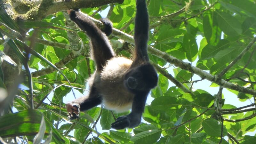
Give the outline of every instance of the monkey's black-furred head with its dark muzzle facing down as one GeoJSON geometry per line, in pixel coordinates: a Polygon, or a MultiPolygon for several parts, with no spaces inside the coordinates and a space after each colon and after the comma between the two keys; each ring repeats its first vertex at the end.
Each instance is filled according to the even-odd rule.
{"type": "Polygon", "coordinates": [[[156,87],[157,80],[155,68],[147,63],[128,71],[124,76],[124,85],[133,93],[145,92],[156,87]]]}

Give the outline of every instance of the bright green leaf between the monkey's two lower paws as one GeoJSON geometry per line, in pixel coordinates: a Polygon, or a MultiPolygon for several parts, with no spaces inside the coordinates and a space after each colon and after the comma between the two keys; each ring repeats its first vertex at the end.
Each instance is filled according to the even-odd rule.
{"type": "Polygon", "coordinates": [[[115,122],[115,120],[111,111],[103,109],[103,112],[100,118],[100,125],[102,127],[102,130],[109,130],[113,122],[115,122]]]}

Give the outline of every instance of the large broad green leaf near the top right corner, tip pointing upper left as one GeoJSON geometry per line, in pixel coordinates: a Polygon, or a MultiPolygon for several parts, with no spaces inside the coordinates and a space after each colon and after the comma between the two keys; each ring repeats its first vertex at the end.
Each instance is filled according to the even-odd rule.
{"type": "Polygon", "coordinates": [[[237,36],[242,33],[242,26],[235,17],[226,12],[217,12],[217,14],[218,26],[226,35],[237,36]]]}

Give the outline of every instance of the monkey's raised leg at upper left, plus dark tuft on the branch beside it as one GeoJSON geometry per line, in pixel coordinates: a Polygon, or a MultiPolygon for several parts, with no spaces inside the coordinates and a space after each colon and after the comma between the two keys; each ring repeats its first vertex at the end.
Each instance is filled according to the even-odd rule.
{"type": "MultiPolygon", "coordinates": [[[[108,37],[82,12],[70,10],[67,12],[69,13],[70,19],[73,20],[79,28],[86,31],[86,34],[91,38],[92,54],[97,65],[97,70],[102,70],[103,66],[107,63],[107,60],[110,60],[115,56],[108,41],[108,37]]],[[[106,21],[106,19],[103,19],[102,22],[105,24],[105,28],[108,28],[107,31],[112,29],[112,24],[109,20],[106,21]]],[[[106,29],[104,31],[106,32],[106,29]]],[[[107,35],[110,33],[106,32],[107,35]]]]}

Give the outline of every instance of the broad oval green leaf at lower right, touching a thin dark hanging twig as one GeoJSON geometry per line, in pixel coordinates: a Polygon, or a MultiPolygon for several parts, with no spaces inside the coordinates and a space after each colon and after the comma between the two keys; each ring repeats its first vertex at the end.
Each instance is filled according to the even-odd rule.
{"type": "MultiPolygon", "coordinates": [[[[213,138],[220,137],[221,123],[219,121],[217,121],[216,119],[207,118],[202,123],[202,126],[204,129],[204,132],[206,132],[206,134],[208,134],[209,136],[211,136],[213,138]]],[[[223,136],[226,136],[226,135],[227,135],[227,129],[224,126],[223,127],[223,136]]]]}

